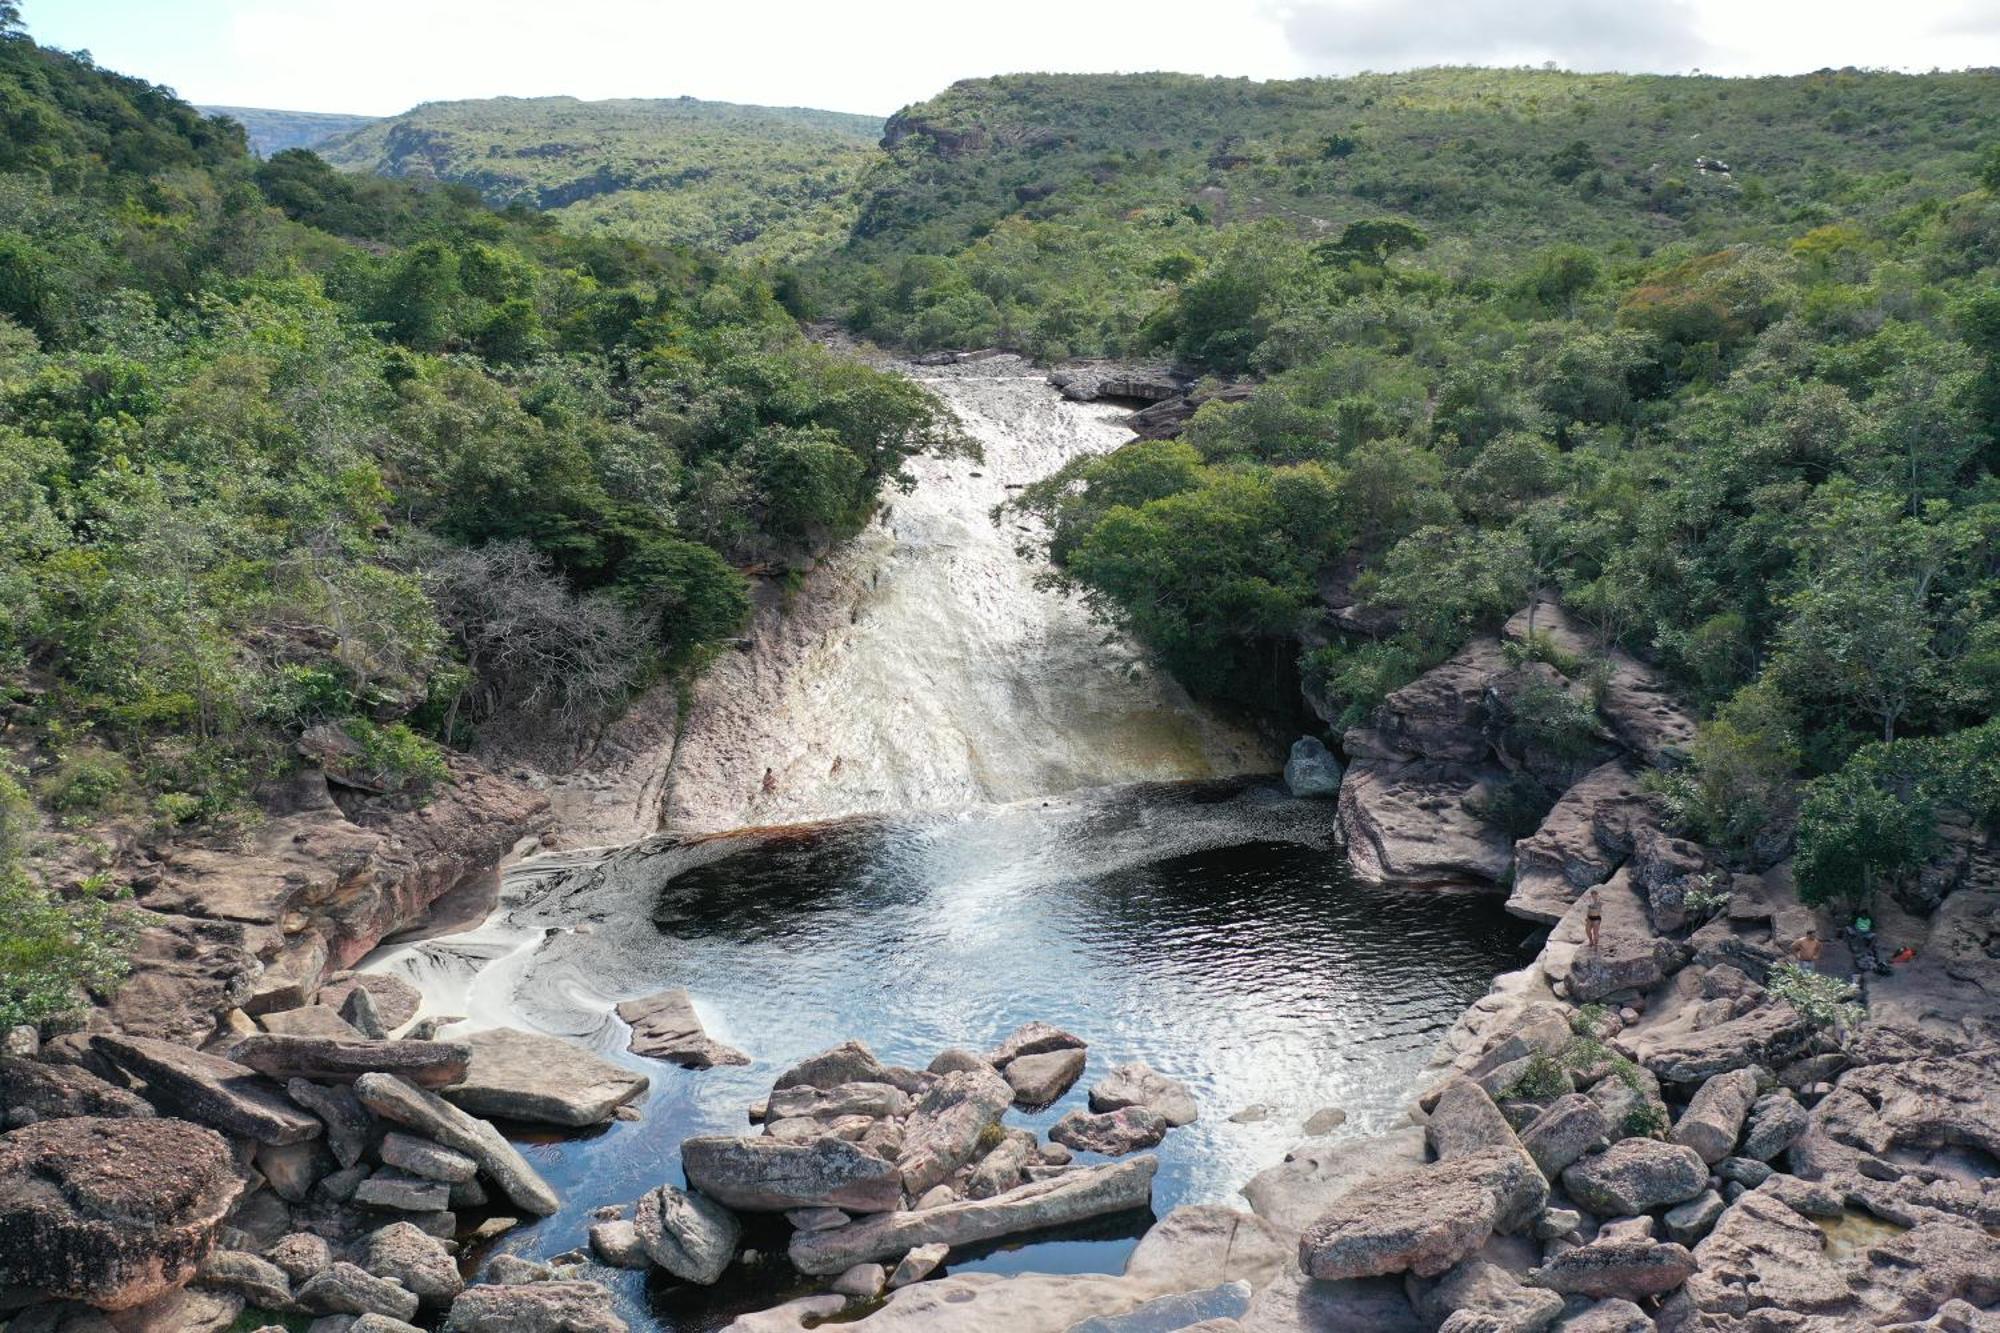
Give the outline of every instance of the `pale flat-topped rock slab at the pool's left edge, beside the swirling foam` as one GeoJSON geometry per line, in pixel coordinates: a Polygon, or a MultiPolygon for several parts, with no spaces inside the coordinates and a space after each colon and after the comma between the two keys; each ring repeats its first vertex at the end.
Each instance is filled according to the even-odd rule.
{"type": "Polygon", "coordinates": [[[444,1095],[488,1119],[568,1129],[604,1125],[650,1085],[642,1073],[542,1033],[494,1027],[472,1033],[466,1045],[472,1047],[466,1077],[444,1095]]]}

